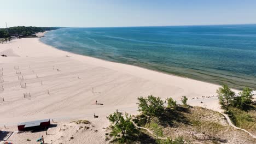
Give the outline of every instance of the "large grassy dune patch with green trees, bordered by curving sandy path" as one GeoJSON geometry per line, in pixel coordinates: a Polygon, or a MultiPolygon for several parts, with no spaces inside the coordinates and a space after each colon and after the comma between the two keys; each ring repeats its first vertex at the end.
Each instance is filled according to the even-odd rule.
{"type": "MultiPolygon", "coordinates": [[[[112,125],[109,127],[109,135],[105,135],[106,141],[164,144],[256,143],[244,131],[230,127],[220,113],[187,105],[187,97],[182,97],[182,105],[178,105],[172,98],[166,100],[165,107],[164,102],[153,95],[139,97],[137,105],[140,115],[131,117],[126,113],[123,116],[118,111],[109,115],[107,118],[112,125]]],[[[246,119],[251,122],[253,118],[246,119]]]]}

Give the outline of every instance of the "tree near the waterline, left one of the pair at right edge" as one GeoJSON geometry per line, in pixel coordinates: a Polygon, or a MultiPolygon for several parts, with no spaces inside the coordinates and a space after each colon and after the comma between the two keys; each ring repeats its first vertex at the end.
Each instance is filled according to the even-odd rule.
{"type": "Polygon", "coordinates": [[[231,91],[231,89],[226,84],[217,89],[216,93],[218,94],[219,103],[221,105],[228,106],[232,101],[231,98],[235,97],[235,92],[231,91]]]}

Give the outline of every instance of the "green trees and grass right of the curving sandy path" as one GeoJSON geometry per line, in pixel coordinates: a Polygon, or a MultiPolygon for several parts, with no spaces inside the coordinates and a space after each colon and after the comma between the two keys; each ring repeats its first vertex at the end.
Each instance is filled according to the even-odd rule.
{"type": "Polygon", "coordinates": [[[217,93],[219,103],[232,123],[256,135],[256,103],[253,101],[252,89],[243,88],[242,92],[235,95],[228,85],[223,85],[217,89],[217,93]]]}

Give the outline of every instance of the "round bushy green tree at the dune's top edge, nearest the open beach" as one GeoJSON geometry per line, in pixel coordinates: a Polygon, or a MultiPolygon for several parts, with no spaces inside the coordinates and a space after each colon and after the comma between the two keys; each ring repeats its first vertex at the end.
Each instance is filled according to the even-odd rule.
{"type": "Polygon", "coordinates": [[[138,97],[138,111],[147,116],[161,116],[164,113],[164,101],[159,97],[148,95],[148,98],[138,97]]]}

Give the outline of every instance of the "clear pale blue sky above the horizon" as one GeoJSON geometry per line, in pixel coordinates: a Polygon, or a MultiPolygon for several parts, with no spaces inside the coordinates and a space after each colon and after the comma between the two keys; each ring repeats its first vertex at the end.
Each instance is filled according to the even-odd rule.
{"type": "Polygon", "coordinates": [[[0,0],[0,27],[256,23],[256,0],[0,0]]]}

